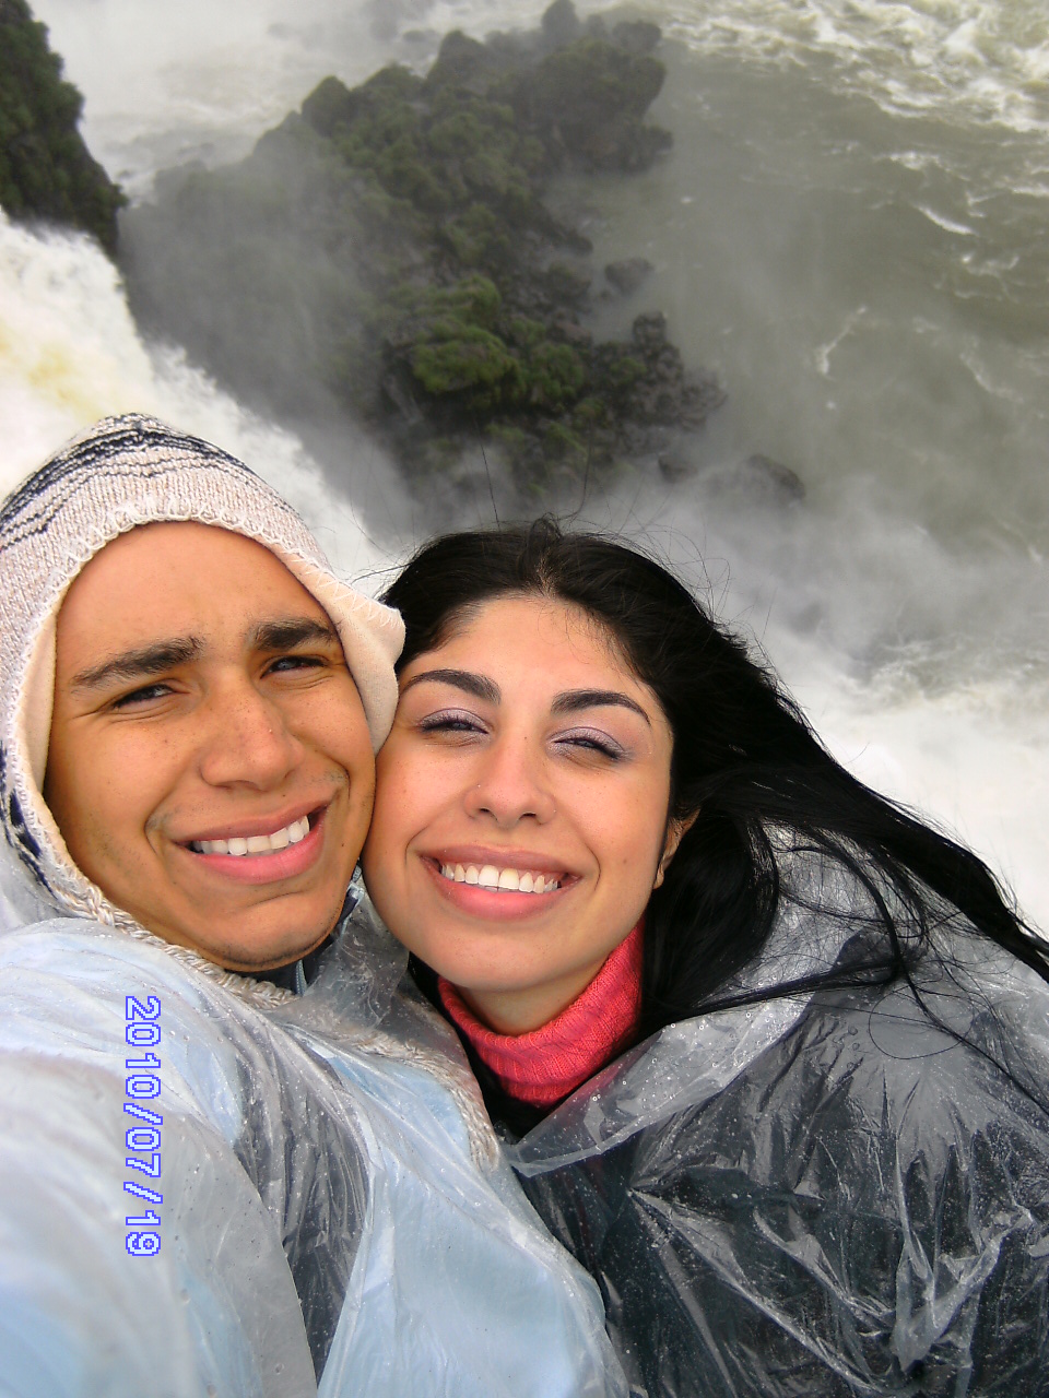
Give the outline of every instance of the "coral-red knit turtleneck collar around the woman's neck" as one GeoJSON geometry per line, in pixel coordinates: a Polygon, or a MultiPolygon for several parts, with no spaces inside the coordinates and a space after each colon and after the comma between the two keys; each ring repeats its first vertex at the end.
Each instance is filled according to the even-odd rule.
{"type": "Polygon", "coordinates": [[[641,1018],[642,924],[620,942],[586,990],[526,1035],[497,1035],[455,986],[438,980],[441,1002],[502,1090],[533,1107],[552,1107],[627,1048],[641,1018]]]}

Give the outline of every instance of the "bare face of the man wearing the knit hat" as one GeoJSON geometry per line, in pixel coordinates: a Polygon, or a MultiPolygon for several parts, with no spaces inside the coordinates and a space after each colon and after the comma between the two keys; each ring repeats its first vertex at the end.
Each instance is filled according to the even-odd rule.
{"type": "Polygon", "coordinates": [[[232,970],[295,960],[338,917],[373,790],[334,626],[269,549],[150,524],[77,576],[43,795],[143,927],[232,970]]]}

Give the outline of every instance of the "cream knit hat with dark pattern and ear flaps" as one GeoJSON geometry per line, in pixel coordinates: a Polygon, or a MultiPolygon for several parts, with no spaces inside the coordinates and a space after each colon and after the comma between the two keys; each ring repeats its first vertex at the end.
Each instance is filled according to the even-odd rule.
{"type": "Polygon", "coordinates": [[[140,931],[70,858],[43,795],[55,624],[70,584],[110,540],[189,520],[255,540],[324,608],[361,695],[372,745],[393,723],[400,615],[341,583],[295,510],[246,466],[154,418],[104,418],[0,506],[0,823],[70,913],[140,931]]]}

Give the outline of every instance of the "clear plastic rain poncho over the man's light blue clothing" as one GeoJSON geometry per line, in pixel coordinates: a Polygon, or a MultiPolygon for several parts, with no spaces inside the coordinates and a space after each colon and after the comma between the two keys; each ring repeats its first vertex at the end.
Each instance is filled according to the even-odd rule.
{"type": "Polygon", "coordinates": [[[366,907],[256,1007],[0,885],[4,1398],[625,1394],[366,907]]]}

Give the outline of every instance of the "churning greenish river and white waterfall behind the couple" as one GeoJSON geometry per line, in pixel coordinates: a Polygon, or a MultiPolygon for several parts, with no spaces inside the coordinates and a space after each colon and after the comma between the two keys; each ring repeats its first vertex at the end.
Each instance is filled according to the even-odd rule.
{"type": "MultiPolygon", "coordinates": [[[[157,169],[242,155],[336,71],[425,63],[455,25],[530,0],[36,0],[134,199],[157,169]]],[[[580,4],[582,14],[597,6],[580,4]]],[[[1049,18],[1043,0],[677,0],[653,116],[670,157],[566,183],[600,266],[655,273],[600,330],[659,306],[727,404],[698,477],[652,470],[587,513],[669,555],[762,646],[835,754],[939,819],[1049,927],[1049,18]],[[762,453],[773,509],[718,488],[762,453]]],[[[176,348],[145,345],[83,239],[0,221],[0,487],[108,411],[243,456],[347,573],[418,530],[369,443],[331,484],[176,348]],[[378,489],[376,489],[378,485],[378,489]],[[362,503],[364,502],[364,503],[362,503]],[[407,523],[406,523],[407,521],[407,523]]]]}

